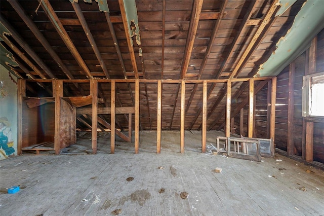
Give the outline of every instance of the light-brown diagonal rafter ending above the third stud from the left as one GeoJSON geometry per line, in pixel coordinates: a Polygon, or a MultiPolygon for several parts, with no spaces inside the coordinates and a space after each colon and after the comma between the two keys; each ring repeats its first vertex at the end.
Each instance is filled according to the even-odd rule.
{"type": "Polygon", "coordinates": [[[62,41],[65,43],[66,47],[70,50],[71,54],[73,55],[76,62],[79,64],[79,66],[83,69],[85,72],[87,78],[92,78],[91,72],[81,57],[81,55],[78,53],[76,47],[74,46],[72,40],[70,39],[69,35],[67,34],[66,30],[64,29],[64,26],[62,25],[60,19],[56,15],[54,9],[52,8],[49,0],[38,0],[38,2],[42,5],[42,8],[44,12],[47,14],[48,18],[51,20],[53,26],[55,27],[56,31],[59,33],[62,41]]]}

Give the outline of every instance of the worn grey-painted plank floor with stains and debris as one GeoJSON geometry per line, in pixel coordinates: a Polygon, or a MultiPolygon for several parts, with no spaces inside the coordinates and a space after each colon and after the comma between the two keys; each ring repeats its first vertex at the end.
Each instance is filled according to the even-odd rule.
{"type": "MultiPolygon", "coordinates": [[[[208,144],[216,135],[208,132],[208,144]]],[[[202,154],[197,131],[186,131],[184,154],[180,132],[163,132],[161,154],[155,154],[156,133],[142,131],[139,154],[134,144],[116,142],[111,155],[108,136],[99,137],[97,155],[1,161],[0,214],[324,215],[324,172],[284,156],[252,162],[202,154]],[[213,172],[216,167],[222,172],[213,172]],[[7,194],[14,185],[21,190],[7,194]]],[[[91,152],[91,141],[79,138],[68,152],[73,148],[91,152]]]]}

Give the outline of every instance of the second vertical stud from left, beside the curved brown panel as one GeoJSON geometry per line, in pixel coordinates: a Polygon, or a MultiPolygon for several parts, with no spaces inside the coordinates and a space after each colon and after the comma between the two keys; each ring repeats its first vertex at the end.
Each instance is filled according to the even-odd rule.
{"type": "Polygon", "coordinates": [[[61,97],[63,97],[63,81],[53,81],[53,94],[55,93],[55,126],[54,126],[54,150],[60,154],[60,120],[61,120],[61,97]],[[54,91],[55,90],[55,91],[54,91]]]}

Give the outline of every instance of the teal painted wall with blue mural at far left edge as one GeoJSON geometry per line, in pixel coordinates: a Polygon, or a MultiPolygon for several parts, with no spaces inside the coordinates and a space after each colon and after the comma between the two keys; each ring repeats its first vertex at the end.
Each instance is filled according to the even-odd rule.
{"type": "Polygon", "coordinates": [[[17,114],[17,78],[0,65],[0,160],[17,155],[17,114]]]}

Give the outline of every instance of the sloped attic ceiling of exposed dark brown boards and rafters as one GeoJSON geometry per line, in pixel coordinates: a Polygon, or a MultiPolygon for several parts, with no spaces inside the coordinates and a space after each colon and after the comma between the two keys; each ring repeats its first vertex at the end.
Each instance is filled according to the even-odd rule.
{"type": "MultiPolygon", "coordinates": [[[[314,1],[311,1],[314,2],[314,1]]],[[[211,80],[253,77],[294,23],[305,1],[98,0],[1,1],[1,48],[24,79],[211,80]],[[280,5],[282,6],[280,9],[280,5]],[[279,11],[280,10],[280,11],[279,11]],[[276,15],[279,13],[280,16],[276,15]]],[[[320,30],[320,29],[319,29],[320,30]]],[[[256,82],[256,86],[265,83],[256,82]]],[[[51,96],[51,86],[28,83],[28,96],[51,96]]],[[[110,85],[110,84],[109,84],[110,85]]],[[[110,86],[99,96],[110,105],[110,86]]],[[[244,87],[244,88],[243,88],[244,87]]],[[[242,82],[235,103],[245,101],[242,82]]],[[[179,129],[180,85],[163,84],[163,129],[179,129]]],[[[134,84],[116,84],[116,106],[134,105],[134,84]]],[[[186,85],[186,129],[200,129],[203,85],[186,85]]],[[[226,85],[208,84],[208,129],[224,119],[226,85]],[[217,119],[218,121],[216,121],[217,119]]],[[[65,84],[66,96],[89,94],[89,84],[65,84]]],[[[140,84],[141,129],[156,129],[157,84],[140,84]]],[[[109,116],[102,116],[109,122],[109,116]]],[[[117,115],[117,127],[128,120],[117,115]]],[[[87,116],[78,128],[87,129],[87,116]]]]}

